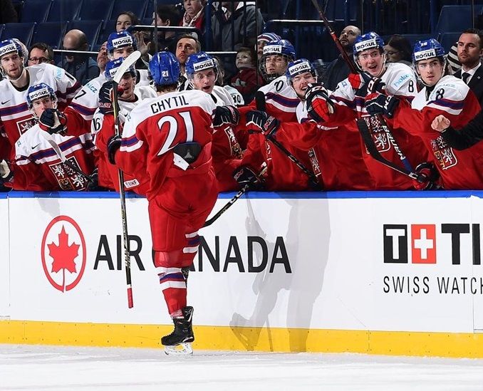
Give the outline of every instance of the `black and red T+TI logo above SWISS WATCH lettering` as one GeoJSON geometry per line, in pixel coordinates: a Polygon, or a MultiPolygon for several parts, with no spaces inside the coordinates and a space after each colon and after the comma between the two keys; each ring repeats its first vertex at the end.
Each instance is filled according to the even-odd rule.
{"type": "Polygon", "coordinates": [[[461,264],[461,243],[470,238],[473,250],[472,264],[479,265],[481,264],[479,224],[383,224],[384,263],[437,264],[438,256],[442,256],[442,259],[450,258],[451,264],[459,265],[461,264]],[[466,236],[469,234],[471,236],[466,236]],[[442,249],[450,248],[450,252],[443,251],[443,254],[438,254],[438,243],[444,244],[442,249]],[[411,254],[411,261],[409,261],[409,254],[411,254]]]}

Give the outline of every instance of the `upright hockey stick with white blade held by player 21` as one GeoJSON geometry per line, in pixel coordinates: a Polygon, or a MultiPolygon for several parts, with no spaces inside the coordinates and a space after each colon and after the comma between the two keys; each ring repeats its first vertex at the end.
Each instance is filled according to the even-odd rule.
{"type": "MultiPolygon", "coordinates": [[[[111,92],[111,100],[113,102],[114,109],[114,132],[116,136],[121,135],[120,121],[119,121],[119,103],[118,103],[118,85],[123,75],[129,70],[130,66],[133,66],[135,62],[140,58],[141,52],[135,51],[131,53],[121,63],[118,71],[116,71],[113,78],[113,90],[111,92]]],[[[126,268],[126,285],[128,288],[128,308],[133,308],[133,287],[131,284],[131,259],[129,254],[129,239],[128,239],[128,216],[126,214],[126,194],[124,189],[124,174],[118,168],[119,179],[119,198],[121,207],[121,220],[123,222],[123,246],[124,246],[124,264],[126,268]]]]}

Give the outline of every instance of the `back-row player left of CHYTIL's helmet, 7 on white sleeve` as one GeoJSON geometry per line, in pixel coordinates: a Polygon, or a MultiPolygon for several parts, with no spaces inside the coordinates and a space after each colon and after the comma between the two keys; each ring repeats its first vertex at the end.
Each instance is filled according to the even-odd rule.
{"type": "MultiPolygon", "coordinates": [[[[128,31],[123,30],[110,34],[106,49],[109,59],[115,60],[116,58],[128,57],[130,53],[137,49],[137,44],[135,38],[128,31]]],[[[147,73],[143,74],[146,75],[147,73]]],[[[95,110],[99,107],[99,91],[104,83],[105,74],[101,73],[97,78],[90,80],[89,83],[84,85],[76,97],[73,98],[66,115],[69,115],[71,112],[77,113],[87,122],[86,126],[90,127],[90,121],[93,119],[95,110]]],[[[149,83],[143,84],[147,85],[149,83]]]]}

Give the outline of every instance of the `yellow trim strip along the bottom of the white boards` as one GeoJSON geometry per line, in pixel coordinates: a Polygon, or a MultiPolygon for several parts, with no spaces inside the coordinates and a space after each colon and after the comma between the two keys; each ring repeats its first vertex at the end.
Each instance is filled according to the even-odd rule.
{"type": "MultiPolygon", "coordinates": [[[[0,343],[161,348],[168,325],[0,321],[0,343]]],[[[195,326],[195,349],[483,358],[483,334],[195,326]]]]}

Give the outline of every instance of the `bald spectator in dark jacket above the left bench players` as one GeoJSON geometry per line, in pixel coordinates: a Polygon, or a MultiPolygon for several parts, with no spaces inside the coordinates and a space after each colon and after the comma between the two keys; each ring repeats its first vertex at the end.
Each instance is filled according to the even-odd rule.
{"type": "MultiPolygon", "coordinates": [[[[81,30],[68,31],[63,37],[62,45],[68,51],[87,51],[88,49],[87,38],[81,30]]],[[[71,73],[81,84],[86,84],[99,75],[98,64],[88,56],[68,55],[66,61],[61,61],[58,66],[71,73]]]]}

